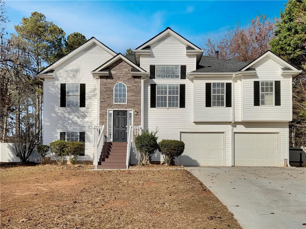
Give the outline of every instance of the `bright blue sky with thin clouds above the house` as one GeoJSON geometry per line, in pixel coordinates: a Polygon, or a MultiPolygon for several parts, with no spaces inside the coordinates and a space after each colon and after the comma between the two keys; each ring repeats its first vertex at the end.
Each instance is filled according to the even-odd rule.
{"type": "Polygon", "coordinates": [[[220,38],[237,21],[246,25],[258,14],[279,17],[287,1],[6,1],[10,23],[31,12],[43,13],[66,36],[80,32],[92,36],[116,52],[125,53],[171,27],[200,47],[208,37],[220,38]],[[204,40],[203,40],[204,39],[204,40]]]}

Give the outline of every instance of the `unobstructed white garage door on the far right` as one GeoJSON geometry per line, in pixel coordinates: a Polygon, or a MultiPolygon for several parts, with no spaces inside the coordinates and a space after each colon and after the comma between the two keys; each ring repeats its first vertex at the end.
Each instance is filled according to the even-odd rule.
{"type": "Polygon", "coordinates": [[[235,133],[235,166],[278,166],[278,134],[235,133]]]}

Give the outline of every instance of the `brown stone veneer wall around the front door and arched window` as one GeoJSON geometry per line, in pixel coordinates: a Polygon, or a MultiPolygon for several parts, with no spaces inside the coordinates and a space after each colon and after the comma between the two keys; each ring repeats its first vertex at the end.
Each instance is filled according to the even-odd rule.
{"type": "Polygon", "coordinates": [[[138,115],[133,113],[134,125],[140,125],[141,115],[141,77],[131,75],[131,66],[123,60],[118,60],[109,66],[110,76],[100,77],[100,115],[99,124],[107,128],[107,109],[137,109],[138,115]],[[114,86],[125,83],[127,87],[127,103],[114,104],[114,86]]]}

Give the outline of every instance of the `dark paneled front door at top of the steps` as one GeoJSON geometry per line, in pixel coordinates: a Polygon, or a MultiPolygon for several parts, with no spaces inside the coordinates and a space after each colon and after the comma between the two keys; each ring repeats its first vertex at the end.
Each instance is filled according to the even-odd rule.
{"type": "Polygon", "coordinates": [[[116,110],[113,111],[113,142],[126,142],[127,141],[127,119],[128,112],[116,110]]]}

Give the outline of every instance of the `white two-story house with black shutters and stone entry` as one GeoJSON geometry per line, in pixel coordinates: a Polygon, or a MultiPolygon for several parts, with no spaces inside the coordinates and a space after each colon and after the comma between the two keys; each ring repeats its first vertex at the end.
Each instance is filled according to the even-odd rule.
{"type": "Polygon", "coordinates": [[[39,73],[43,144],[84,142],[79,160],[126,168],[139,158],[134,137],[157,129],[159,140],[185,142],[176,164],[288,163],[293,65],[271,51],[251,63],[203,56],[169,27],[133,52],[93,37],[39,73]]]}

